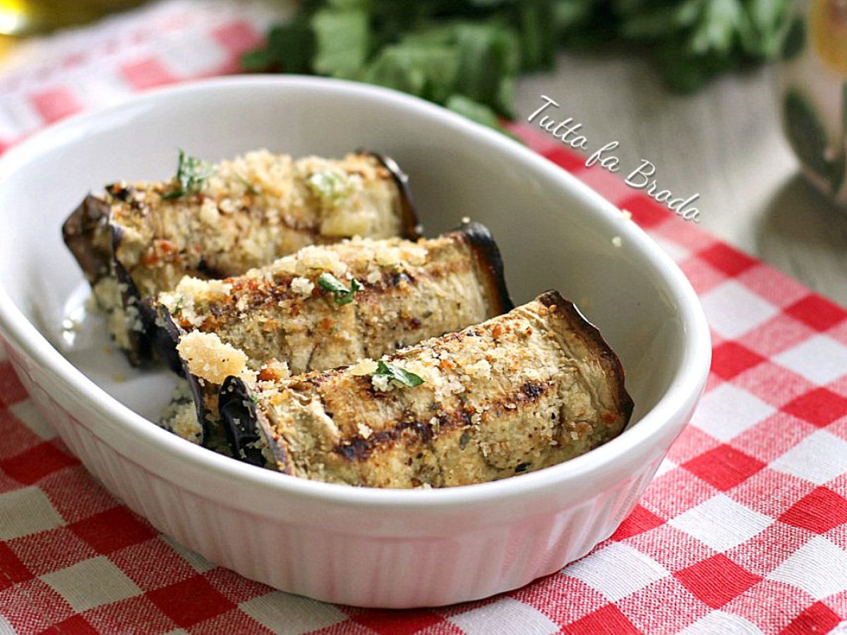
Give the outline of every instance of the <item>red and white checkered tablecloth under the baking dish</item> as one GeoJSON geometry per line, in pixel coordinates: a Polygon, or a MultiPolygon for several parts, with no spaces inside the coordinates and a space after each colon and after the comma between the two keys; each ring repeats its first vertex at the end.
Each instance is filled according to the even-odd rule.
{"type": "MultiPolygon", "coordinates": [[[[80,109],[233,71],[272,17],[257,3],[175,0],[27,45],[0,66],[0,149],[80,109]]],[[[467,605],[360,610],[283,594],[114,500],[0,362],[0,633],[847,633],[847,311],[516,130],[631,211],[711,324],[706,395],[612,538],[467,605]]]]}

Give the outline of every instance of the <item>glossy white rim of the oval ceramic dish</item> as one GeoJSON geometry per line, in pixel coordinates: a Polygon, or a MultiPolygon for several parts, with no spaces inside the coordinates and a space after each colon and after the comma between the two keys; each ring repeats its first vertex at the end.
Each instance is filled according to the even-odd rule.
{"type": "MultiPolygon", "coordinates": [[[[23,141],[19,146],[11,148],[0,157],[0,184],[3,183],[8,174],[14,173],[17,168],[25,166],[26,163],[43,152],[52,152],[73,143],[80,133],[84,134],[86,130],[102,129],[101,122],[111,120],[111,117],[122,111],[143,108],[147,105],[152,106],[156,102],[167,101],[171,97],[191,97],[192,93],[196,93],[199,97],[208,92],[249,91],[251,87],[268,86],[269,84],[278,84],[280,90],[340,92],[365,97],[366,99],[379,99],[390,102],[391,108],[396,108],[399,113],[408,110],[418,111],[418,113],[423,113],[430,119],[438,120],[439,124],[451,127],[456,131],[457,138],[460,136],[480,138],[480,141],[487,143],[495,152],[505,153],[517,163],[522,163],[551,180],[560,181],[562,187],[573,191],[584,207],[590,208],[589,213],[599,216],[606,224],[617,221],[619,226],[617,233],[622,236],[623,240],[630,241],[634,249],[638,251],[639,257],[650,263],[650,266],[655,269],[653,274],[661,278],[662,284],[667,286],[667,290],[678,301],[679,317],[684,325],[684,354],[681,356],[678,368],[673,373],[669,388],[650,411],[645,412],[640,417],[639,422],[628,428],[616,439],[612,439],[582,456],[577,456],[553,467],[546,467],[537,472],[529,472],[491,483],[476,483],[444,489],[352,488],[348,485],[321,483],[305,478],[290,477],[279,472],[235,461],[212,450],[191,444],[185,439],[180,439],[163,428],[159,428],[155,423],[136,414],[128,406],[108,395],[105,390],[97,386],[62,356],[36,326],[30,323],[19,307],[11,300],[3,284],[0,284],[0,329],[13,339],[16,345],[25,351],[33,361],[42,367],[51,369],[56,374],[58,381],[75,392],[91,410],[96,411],[101,417],[127,428],[126,431],[133,433],[138,442],[157,444],[163,453],[163,459],[188,461],[193,467],[219,472],[221,475],[239,481],[245,486],[262,487],[263,489],[276,490],[280,494],[293,494],[327,503],[400,505],[414,508],[429,505],[461,507],[472,502],[505,500],[529,494],[534,490],[545,489],[545,487],[556,483],[585,478],[590,472],[614,466],[625,459],[628,453],[639,449],[643,450],[645,444],[655,443],[660,438],[664,428],[678,425],[681,429],[684,422],[679,422],[679,418],[687,414],[700,397],[706,384],[711,361],[711,338],[700,301],[678,266],[637,225],[634,223],[619,223],[620,213],[617,208],[572,174],[568,174],[562,168],[557,167],[554,163],[549,162],[517,141],[508,139],[506,135],[474,124],[455,113],[429,102],[424,102],[417,97],[355,82],[299,75],[283,77],[275,75],[234,76],[169,86],[147,91],[108,108],[75,115],[36,133],[36,135],[23,141]]],[[[682,223],[684,221],[678,219],[675,222],[682,223]]],[[[98,439],[108,444],[96,430],[89,426],[86,426],[86,428],[98,439]]],[[[122,449],[109,445],[125,458],[130,461],[133,460],[122,449]]],[[[159,473],[159,476],[170,480],[167,475],[159,473]]],[[[193,489],[188,483],[180,483],[180,486],[193,489]]],[[[208,491],[202,490],[202,495],[208,496],[208,491]]]]}

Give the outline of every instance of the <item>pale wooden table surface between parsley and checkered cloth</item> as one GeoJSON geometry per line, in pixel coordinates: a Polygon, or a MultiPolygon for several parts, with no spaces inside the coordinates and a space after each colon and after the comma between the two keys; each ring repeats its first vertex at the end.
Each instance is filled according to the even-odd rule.
{"type": "Polygon", "coordinates": [[[847,209],[800,175],[774,80],[772,68],[756,69],[678,96],[644,60],[564,54],[556,72],[520,82],[518,113],[525,121],[540,95],[555,99],[557,114],[583,124],[592,152],[620,143],[621,174],[650,160],[662,188],[700,193],[702,227],[847,305],[847,209]]]}

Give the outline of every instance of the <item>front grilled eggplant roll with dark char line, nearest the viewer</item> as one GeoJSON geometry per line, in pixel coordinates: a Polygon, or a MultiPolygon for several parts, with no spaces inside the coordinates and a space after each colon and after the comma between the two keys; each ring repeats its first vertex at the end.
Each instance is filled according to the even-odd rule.
{"type": "Polygon", "coordinates": [[[281,472],[368,487],[448,487],[532,472],[606,443],[633,402],[623,368],[548,291],[379,361],[224,382],[220,410],[281,472]]]}

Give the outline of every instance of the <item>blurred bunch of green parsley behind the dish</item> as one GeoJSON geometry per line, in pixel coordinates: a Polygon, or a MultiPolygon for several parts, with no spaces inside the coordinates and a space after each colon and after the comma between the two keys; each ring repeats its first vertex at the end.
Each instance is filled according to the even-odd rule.
{"type": "Polygon", "coordinates": [[[695,91],[776,55],[789,0],[302,0],[246,70],[328,75],[412,93],[497,127],[520,73],[559,48],[633,45],[695,91]]]}

